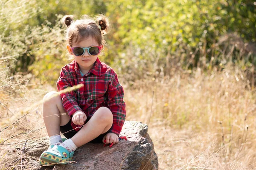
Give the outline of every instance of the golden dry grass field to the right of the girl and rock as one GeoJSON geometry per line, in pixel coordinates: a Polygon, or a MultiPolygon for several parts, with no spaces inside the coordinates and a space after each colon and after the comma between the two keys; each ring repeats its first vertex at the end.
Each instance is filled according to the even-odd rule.
{"type": "Polygon", "coordinates": [[[160,169],[253,169],[255,91],[237,68],[145,80],[125,94],[127,119],[148,124],[160,169]]]}

